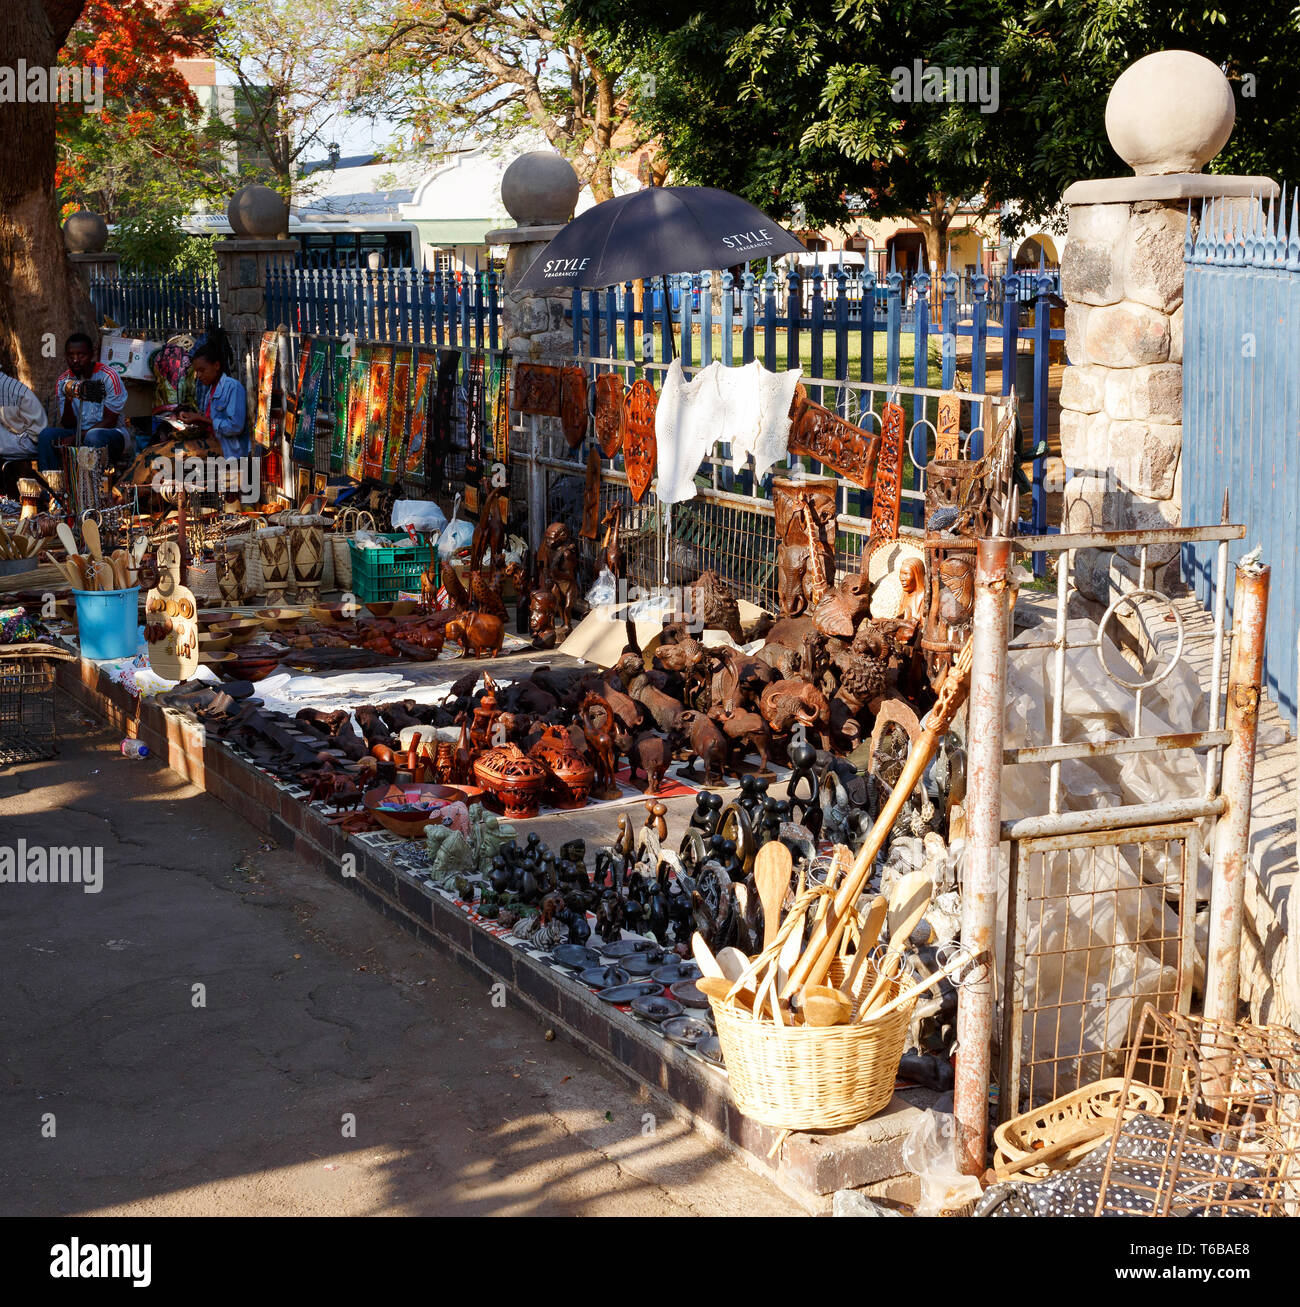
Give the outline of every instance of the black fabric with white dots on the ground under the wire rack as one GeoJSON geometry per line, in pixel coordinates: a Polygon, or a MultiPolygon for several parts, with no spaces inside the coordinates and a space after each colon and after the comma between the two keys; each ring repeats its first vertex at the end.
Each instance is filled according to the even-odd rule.
{"type": "MultiPolygon", "coordinates": [[[[1126,1121],[1111,1168],[1107,1206],[1101,1216],[1139,1216],[1155,1206],[1171,1127],[1158,1116],[1141,1114],[1126,1121]]],[[[1006,1180],[994,1184],[975,1209],[977,1217],[1091,1217],[1101,1195],[1111,1141],[1099,1144],[1074,1166],[1045,1180],[1006,1180]]],[[[1190,1138],[1182,1148],[1180,1175],[1175,1183],[1171,1216],[1250,1216],[1239,1208],[1224,1209],[1224,1200],[1248,1202],[1261,1196],[1263,1172],[1241,1157],[1224,1157],[1212,1148],[1198,1148],[1190,1138]]]]}

